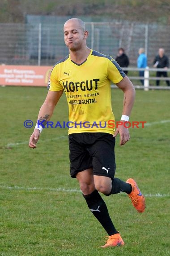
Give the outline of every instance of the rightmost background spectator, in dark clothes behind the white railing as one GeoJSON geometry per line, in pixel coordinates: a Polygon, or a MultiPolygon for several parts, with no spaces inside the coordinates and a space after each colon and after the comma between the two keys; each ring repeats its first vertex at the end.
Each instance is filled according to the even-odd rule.
{"type": "MultiPolygon", "coordinates": [[[[158,55],[155,57],[154,62],[153,62],[153,67],[157,68],[164,68],[165,70],[169,67],[169,60],[168,57],[164,54],[165,51],[163,48],[160,48],[158,51],[158,55]]],[[[157,77],[168,77],[167,71],[157,71],[157,77]]],[[[160,80],[156,81],[156,85],[159,86],[160,80]]],[[[170,86],[170,81],[166,80],[166,84],[170,86]]]]}

